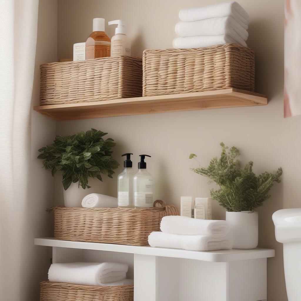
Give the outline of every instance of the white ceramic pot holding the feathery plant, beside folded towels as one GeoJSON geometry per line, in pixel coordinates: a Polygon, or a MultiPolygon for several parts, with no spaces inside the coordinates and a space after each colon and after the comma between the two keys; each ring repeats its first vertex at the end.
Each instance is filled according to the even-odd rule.
{"type": "Polygon", "coordinates": [[[258,245],[258,212],[226,212],[234,249],[254,249],[258,245]]]}

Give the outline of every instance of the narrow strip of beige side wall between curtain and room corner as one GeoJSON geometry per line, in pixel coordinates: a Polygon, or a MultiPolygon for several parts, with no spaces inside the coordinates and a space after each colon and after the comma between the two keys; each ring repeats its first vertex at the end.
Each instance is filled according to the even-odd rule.
{"type": "MultiPolygon", "coordinates": [[[[57,60],[57,0],[40,0],[36,64],[33,82],[32,106],[39,104],[39,65],[57,60]]],[[[37,160],[38,149],[51,143],[55,136],[55,121],[32,110],[31,130],[31,187],[27,207],[26,238],[23,252],[22,300],[39,300],[39,281],[47,280],[50,252],[34,246],[35,237],[53,235],[53,216],[45,209],[53,206],[54,180],[37,160]]]]}

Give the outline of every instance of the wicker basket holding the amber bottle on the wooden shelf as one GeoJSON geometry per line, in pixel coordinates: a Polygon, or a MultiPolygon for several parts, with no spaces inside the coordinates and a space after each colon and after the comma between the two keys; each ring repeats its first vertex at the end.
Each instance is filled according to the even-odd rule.
{"type": "Polygon", "coordinates": [[[40,66],[40,105],[142,95],[142,58],[102,57],[40,66]]]}

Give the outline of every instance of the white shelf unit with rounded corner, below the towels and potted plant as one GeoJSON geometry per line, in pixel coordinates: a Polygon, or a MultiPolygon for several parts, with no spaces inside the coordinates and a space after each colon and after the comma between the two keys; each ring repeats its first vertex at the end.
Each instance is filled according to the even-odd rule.
{"type": "Polygon", "coordinates": [[[266,261],[275,256],[262,248],[197,252],[53,237],[36,238],[35,244],[52,247],[53,263],[95,258],[132,263],[134,301],[266,300],[266,261]]]}

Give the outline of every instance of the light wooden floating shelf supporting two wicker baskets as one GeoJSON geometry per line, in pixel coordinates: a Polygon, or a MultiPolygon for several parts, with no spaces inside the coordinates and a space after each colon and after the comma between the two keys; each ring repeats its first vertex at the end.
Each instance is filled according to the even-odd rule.
{"type": "Polygon", "coordinates": [[[33,109],[55,120],[77,120],[267,104],[265,95],[228,88],[206,92],[43,105],[33,109]]]}

